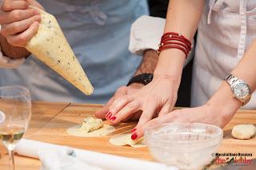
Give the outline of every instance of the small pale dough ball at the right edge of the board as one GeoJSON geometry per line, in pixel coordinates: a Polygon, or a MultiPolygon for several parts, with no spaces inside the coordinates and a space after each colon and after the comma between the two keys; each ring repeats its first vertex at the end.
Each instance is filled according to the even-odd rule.
{"type": "Polygon", "coordinates": [[[249,140],[254,136],[256,128],[254,125],[236,125],[232,129],[232,136],[240,140],[249,140]]]}

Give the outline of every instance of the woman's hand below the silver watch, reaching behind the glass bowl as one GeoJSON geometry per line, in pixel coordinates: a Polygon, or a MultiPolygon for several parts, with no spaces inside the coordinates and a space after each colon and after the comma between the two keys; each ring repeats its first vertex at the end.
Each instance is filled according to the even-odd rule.
{"type": "Polygon", "coordinates": [[[205,123],[224,128],[241,105],[242,102],[232,96],[230,85],[223,81],[206,105],[190,109],[177,109],[164,117],[154,118],[145,125],[137,125],[132,131],[132,139],[136,140],[142,137],[146,128],[150,126],[171,122],[205,123]]]}

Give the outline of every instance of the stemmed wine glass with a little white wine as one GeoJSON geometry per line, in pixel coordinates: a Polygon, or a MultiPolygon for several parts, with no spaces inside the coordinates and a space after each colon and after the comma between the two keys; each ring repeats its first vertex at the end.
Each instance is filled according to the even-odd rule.
{"type": "Polygon", "coordinates": [[[0,87],[0,139],[9,151],[9,169],[14,169],[14,148],[22,138],[31,117],[31,98],[22,86],[0,87]]]}

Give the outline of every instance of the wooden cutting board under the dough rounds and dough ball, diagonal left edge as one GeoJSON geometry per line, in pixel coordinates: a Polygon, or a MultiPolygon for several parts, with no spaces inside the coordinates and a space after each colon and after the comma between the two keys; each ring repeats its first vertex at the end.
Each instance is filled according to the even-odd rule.
{"type": "MultiPolygon", "coordinates": [[[[154,161],[150,156],[148,148],[132,148],[130,146],[115,146],[110,144],[109,139],[122,133],[130,132],[137,121],[128,121],[115,125],[116,131],[107,136],[79,137],[70,136],[66,129],[74,125],[82,124],[83,118],[94,117],[94,113],[102,108],[102,105],[71,104],[59,113],[41,129],[30,137],[31,140],[39,140],[51,144],[63,144],[73,148],[82,148],[94,152],[103,152],[117,156],[126,156],[139,160],[154,161]]],[[[105,124],[109,124],[105,121],[105,124]]],[[[250,140],[237,140],[231,136],[234,125],[254,124],[256,125],[256,111],[239,110],[234,118],[225,128],[224,140],[219,148],[220,153],[252,153],[256,158],[256,138],[250,140]]]]}

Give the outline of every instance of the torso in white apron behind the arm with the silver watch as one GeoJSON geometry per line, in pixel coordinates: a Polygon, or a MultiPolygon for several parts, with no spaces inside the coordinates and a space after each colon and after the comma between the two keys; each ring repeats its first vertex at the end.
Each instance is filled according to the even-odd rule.
{"type": "MultiPolygon", "coordinates": [[[[256,1],[206,1],[198,26],[191,106],[204,105],[256,38],[256,1]]],[[[244,107],[256,109],[256,93],[244,107]]]]}

